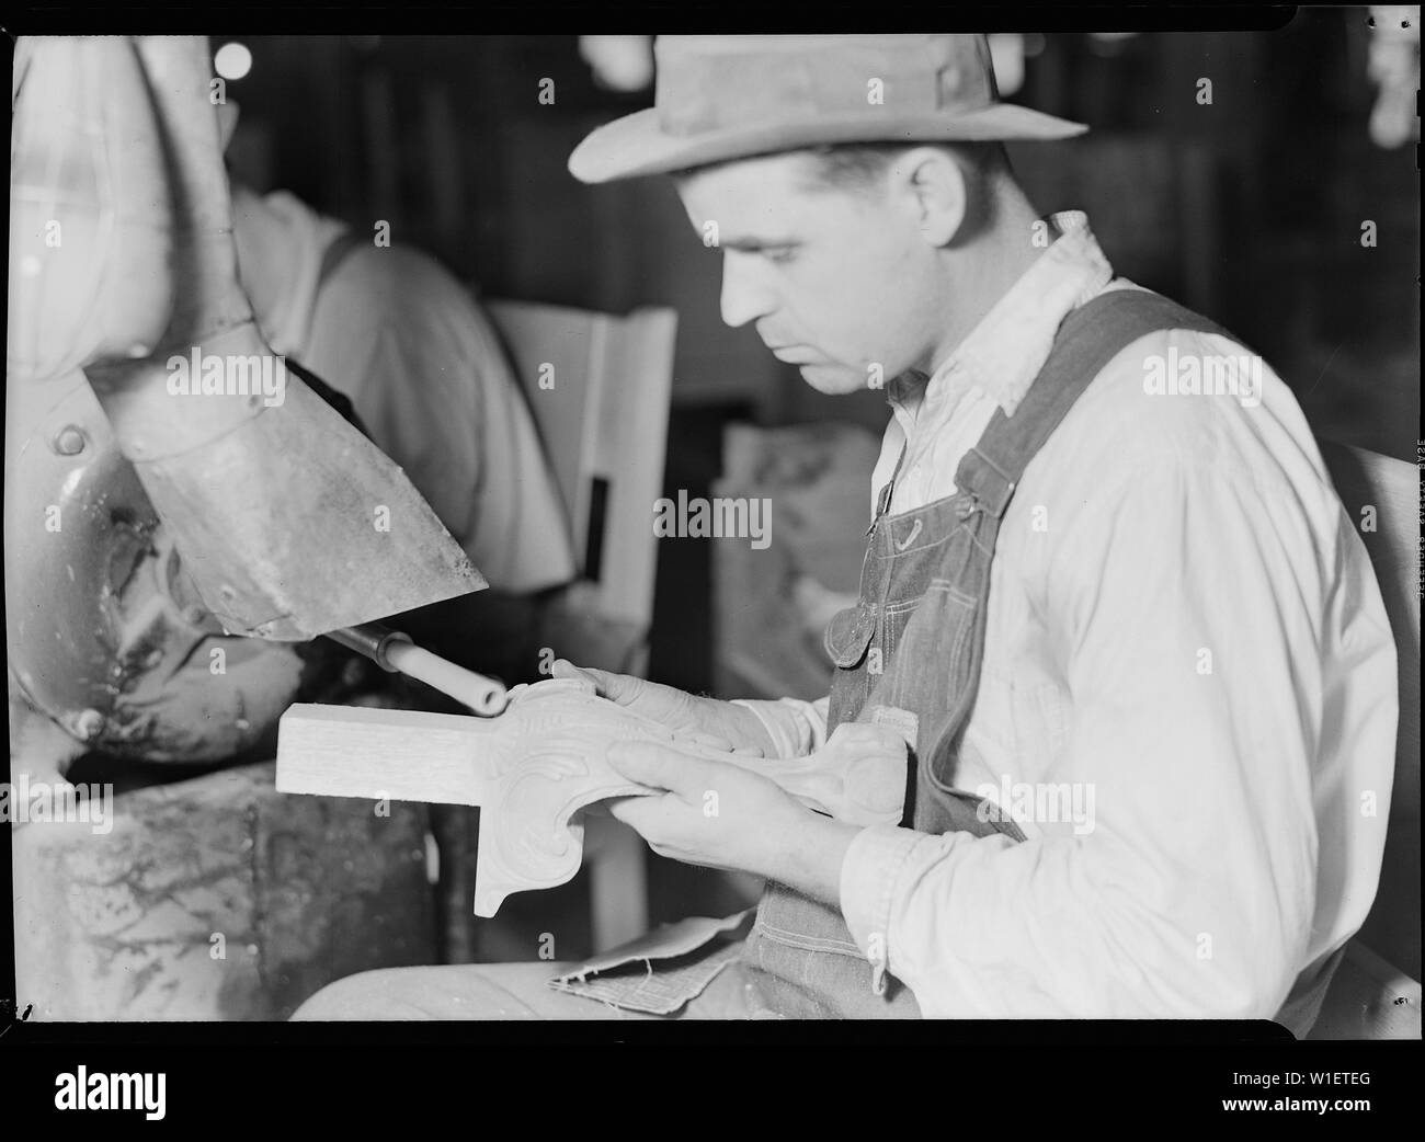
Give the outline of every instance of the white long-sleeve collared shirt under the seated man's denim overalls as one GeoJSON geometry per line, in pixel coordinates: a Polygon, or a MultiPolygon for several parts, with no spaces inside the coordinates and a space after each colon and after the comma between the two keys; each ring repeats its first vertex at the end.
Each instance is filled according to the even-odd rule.
{"type": "MultiPolygon", "coordinates": [[[[872,497],[955,490],[1013,414],[1063,316],[1110,285],[1077,212],[921,392],[892,389],[872,497]]],[[[928,1017],[1278,1018],[1375,896],[1395,749],[1395,649],[1361,538],[1297,402],[1265,366],[1240,397],[1149,392],[1161,332],[1119,353],[1029,464],[990,570],[956,786],[1026,834],[878,826],[841,873],[862,950],[928,1017]],[[1260,403],[1253,396],[1260,396],[1260,403]],[[875,941],[875,944],[872,944],[875,941]]],[[[750,702],[788,755],[826,701],[750,702]]]]}

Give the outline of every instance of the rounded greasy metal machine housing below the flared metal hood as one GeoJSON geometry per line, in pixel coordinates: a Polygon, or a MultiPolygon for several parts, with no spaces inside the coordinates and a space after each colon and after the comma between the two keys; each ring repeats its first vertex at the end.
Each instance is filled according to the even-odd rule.
{"type": "Polygon", "coordinates": [[[271,739],[311,649],[224,637],[83,373],[7,397],[6,646],[24,698],[71,752],[214,762],[271,739]]]}

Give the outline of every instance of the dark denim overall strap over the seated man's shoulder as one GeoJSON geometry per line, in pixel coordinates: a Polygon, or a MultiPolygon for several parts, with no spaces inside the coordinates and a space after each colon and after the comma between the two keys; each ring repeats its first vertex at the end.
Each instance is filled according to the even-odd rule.
{"type": "Polygon", "coordinates": [[[1015,414],[996,409],[979,443],[965,453],[955,473],[956,486],[1002,517],[1029,461],[1083,390],[1123,349],[1164,329],[1233,337],[1207,318],[1143,289],[1112,289],[1069,313],[1015,414]]]}

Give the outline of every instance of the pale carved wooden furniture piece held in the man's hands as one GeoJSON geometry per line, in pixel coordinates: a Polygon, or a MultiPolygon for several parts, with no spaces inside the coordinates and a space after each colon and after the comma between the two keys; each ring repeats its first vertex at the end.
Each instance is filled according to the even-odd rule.
{"type": "Polygon", "coordinates": [[[571,678],[516,686],[504,713],[489,719],[292,706],[278,739],[278,789],[482,806],[475,913],[494,916],[510,893],[573,879],[583,809],[657,792],[608,765],[616,742],[657,742],[741,766],[854,824],[901,819],[906,743],[885,726],[838,726],[807,758],[751,758],[680,739],[571,678]]]}

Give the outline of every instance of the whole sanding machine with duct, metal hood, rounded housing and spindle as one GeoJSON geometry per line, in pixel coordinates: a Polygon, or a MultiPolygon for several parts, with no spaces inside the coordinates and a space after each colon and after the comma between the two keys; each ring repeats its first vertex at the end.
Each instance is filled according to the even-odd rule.
{"type": "Polygon", "coordinates": [[[241,383],[274,355],[207,40],[20,40],[13,97],[11,693],[87,749],[217,760],[271,730],[331,635],[499,712],[499,682],[378,624],[486,587],[429,504],[298,376],[279,403],[241,383]],[[180,357],[217,362],[211,390],[175,396],[180,357]]]}

